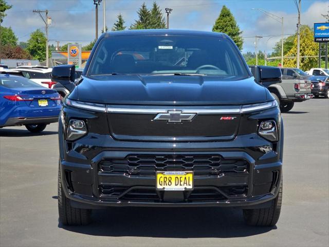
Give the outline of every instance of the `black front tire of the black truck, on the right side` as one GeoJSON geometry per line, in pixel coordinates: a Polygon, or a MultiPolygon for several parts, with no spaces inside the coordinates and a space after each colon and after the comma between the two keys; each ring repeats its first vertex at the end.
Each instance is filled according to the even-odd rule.
{"type": "Polygon", "coordinates": [[[274,226],[280,217],[282,204],[282,181],[280,183],[279,193],[276,199],[268,208],[243,209],[245,222],[251,226],[274,226]]]}

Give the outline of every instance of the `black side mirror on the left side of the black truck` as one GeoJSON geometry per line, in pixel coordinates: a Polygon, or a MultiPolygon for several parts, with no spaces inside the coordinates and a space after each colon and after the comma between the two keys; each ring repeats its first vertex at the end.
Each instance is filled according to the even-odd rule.
{"type": "Polygon", "coordinates": [[[52,68],[51,80],[62,84],[69,92],[76,87],[74,83],[76,79],[75,65],[60,65],[52,68]]]}

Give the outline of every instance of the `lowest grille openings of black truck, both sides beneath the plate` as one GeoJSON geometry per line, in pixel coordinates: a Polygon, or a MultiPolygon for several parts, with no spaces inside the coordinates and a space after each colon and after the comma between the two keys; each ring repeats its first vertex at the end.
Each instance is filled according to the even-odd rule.
{"type": "MultiPolygon", "coordinates": [[[[163,196],[163,191],[157,193],[154,187],[129,188],[123,186],[100,185],[99,193],[101,197],[149,202],[160,202],[163,196]]],[[[215,187],[195,187],[191,192],[184,191],[184,193],[186,193],[186,202],[218,201],[227,198],[245,197],[247,186],[221,187],[219,190],[215,187]],[[220,191],[226,193],[227,196],[220,191]]]]}

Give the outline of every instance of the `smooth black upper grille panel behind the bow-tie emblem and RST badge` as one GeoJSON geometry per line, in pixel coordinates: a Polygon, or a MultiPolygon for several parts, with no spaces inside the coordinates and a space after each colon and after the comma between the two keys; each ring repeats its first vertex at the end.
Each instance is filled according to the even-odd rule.
{"type": "MultiPolygon", "coordinates": [[[[169,107],[171,109],[172,107],[169,107]]],[[[177,109],[178,111],[179,109],[177,109]]],[[[183,110],[184,111],[184,110],[183,110]]],[[[182,141],[233,139],[240,114],[230,114],[232,121],[220,120],[220,114],[196,115],[191,121],[168,123],[154,120],[157,114],[109,113],[111,135],[119,140],[182,141]],[[173,138],[175,137],[175,138],[173,138]]]]}

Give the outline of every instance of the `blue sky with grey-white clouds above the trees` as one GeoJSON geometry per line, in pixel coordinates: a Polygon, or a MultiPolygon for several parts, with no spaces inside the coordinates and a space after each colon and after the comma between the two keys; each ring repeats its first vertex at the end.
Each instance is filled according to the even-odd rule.
{"type": "MultiPolygon", "coordinates": [[[[106,25],[112,28],[117,14],[121,13],[125,25],[129,27],[136,19],[136,10],[145,2],[149,8],[153,0],[105,0],[106,25]]],[[[278,16],[284,17],[284,33],[296,31],[297,8],[294,0],[158,0],[160,8],[173,9],[170,15],[170,28],[211,31],[212,26],[226,5],[233,13],[237,24],[243,31],[243,52],[254,51],[255,35],[263,36],[259,41],[259,49],[270,51],[280,37],[266,36],[280,35],[281,24],[269,16],[251,8],[262,8],[278,16]],[[268,40],[269,39],[269,40],[268,40]],[[267,43],[267,45],[266,45],[267,43]]],[[[19,41],[27,41],[29,34],[37,28],[45,30],[44,24],[33,9],[48,9],[52,17],[49,28],[50,43],[60,41],[60,45],[67,42],[79,42],[82,45],[95,38],[95,5],[93,0],[7,0],[12,8],[3,26],[11,26],[19,41]]],[[[301,24],[313,26],[313,23],[324,22],[329,9],[329,1],[302,0],[301,24]]],[[[103,5],[99,6],[99,33],[103,27],[103,5]]]]}

